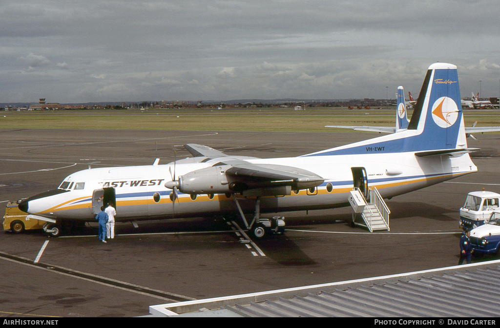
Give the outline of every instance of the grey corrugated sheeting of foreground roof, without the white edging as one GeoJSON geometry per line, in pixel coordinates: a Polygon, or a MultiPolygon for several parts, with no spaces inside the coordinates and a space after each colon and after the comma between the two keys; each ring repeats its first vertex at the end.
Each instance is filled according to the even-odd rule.
{"type": "Polygon", "coordinates": [[[500,316],[500,266],[226,305],[241,316],[500,316]]]}

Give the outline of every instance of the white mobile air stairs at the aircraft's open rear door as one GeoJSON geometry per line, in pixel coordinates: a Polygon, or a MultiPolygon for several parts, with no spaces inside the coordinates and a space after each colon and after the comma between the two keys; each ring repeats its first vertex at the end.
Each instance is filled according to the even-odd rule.
{"type": "Polygon", "coordinates": [[[354,210],[352,213],[352,223],[364,226],[373,232],[375,230],[389,231],[389,214],[390,210],[383,201],[382,196],[374,186],[370,186],[367,196],[359,188],[353,188],[349,192],[349,203],[354,210]],[[366,200],[369,199],[369,201],[366,200]],[[358,218],[361,213],[361,218],[358,218]]]}

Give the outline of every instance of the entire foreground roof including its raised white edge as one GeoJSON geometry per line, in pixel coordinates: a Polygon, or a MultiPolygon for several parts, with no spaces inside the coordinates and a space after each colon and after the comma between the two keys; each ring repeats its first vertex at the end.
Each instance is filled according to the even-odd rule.
{"type": "Polygon", "coordinates": [[[500,260],[149,306],[154,316],[500,316],[500,260]]]}

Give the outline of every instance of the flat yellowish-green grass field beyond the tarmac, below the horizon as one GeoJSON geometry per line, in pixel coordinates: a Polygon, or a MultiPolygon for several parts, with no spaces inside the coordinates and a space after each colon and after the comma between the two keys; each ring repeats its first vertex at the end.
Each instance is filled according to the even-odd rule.
{"type": "MultiPolygon", "coordinates": [[[[500,126],[499,110],[464,110],[466,126],[500,126]]],[[[0,112],[0,128],[332,131],[324,125],[394,126],[395,108],[89,109],[0,112]]],[[[344,132],[350,129],[341,129],[344,132]]],[[[359,133],[359,132],[357,132],[359,133]]]]}

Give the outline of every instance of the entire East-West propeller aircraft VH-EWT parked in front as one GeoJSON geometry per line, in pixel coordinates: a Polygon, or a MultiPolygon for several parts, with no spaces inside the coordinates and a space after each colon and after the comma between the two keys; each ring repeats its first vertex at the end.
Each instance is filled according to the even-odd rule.
{"type": "Polygon", "coordinates": [[[75,172],[19,208],[51,222],[47,231],[55,232],[65,220],[92,221],[108,201],[117,221],[239,214],[261,237],[269,230],[260,212],[347,206],[353,185],[376,186],[390,198],[477,171],[468,154],[477,148],[467,147],[456,66],[447,63],[429,66],[411,120],[397,133],[284,158],[185,147],[193,157],[168,164],[75,172]],[[254,214],[249,224],[245,213],[254,214]]]}

